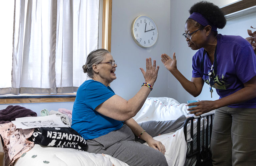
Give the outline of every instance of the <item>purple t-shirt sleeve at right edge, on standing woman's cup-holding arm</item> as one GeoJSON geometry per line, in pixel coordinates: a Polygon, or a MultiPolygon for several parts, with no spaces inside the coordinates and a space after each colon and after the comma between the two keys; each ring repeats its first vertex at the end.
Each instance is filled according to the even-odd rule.
{"type": "Polygon", "coordinates": [[[237,77],[246,83],[256,75],[256,55],[251,45],[242,47],[235,58],[237,77]]]}

